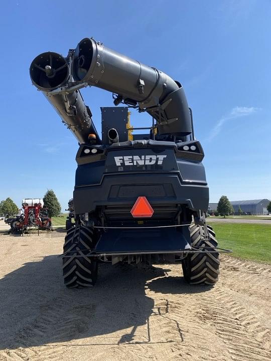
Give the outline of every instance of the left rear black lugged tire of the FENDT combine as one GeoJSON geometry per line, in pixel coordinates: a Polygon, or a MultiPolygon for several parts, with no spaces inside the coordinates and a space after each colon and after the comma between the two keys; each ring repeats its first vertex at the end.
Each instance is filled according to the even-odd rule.
{"type": "Polygon", "coordinates": [[[67,231],[63,256],[64,284],[68,288],[92,287],[98,274],[98,262],[87,257],[94,248],[93,231],[84,226],[72,227],[67,231]],[[73,256],[73,257],[68,257],[73,256]]]}

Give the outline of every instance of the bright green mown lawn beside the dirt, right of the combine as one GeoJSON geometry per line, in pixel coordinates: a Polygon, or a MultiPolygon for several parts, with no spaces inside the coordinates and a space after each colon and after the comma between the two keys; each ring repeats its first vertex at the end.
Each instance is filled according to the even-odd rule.
{"type": "Polygon", "coordinates": [[[216,233],[218,247],[231,249],[233,253],[230,255],[271,264],[271,225],[208,224],[216,233]]]}

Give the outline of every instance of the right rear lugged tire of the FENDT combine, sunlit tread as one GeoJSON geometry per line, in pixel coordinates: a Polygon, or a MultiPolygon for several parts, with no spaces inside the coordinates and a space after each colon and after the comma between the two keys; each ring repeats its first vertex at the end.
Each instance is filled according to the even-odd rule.
{"type": "MultiPolygon", "coordinates": [[[[192,247],[217,247],[215,233],[211,226],[208,229],[208,241],[203,240],[200,234],[200,227],[204,234],[204,227],[193,225],[190,227],[190,237],[192,247]]],[[[208,248],[208,250],[212,250],[208,248]]],[[[215,249],[214,249],[215,250],[215,249]]],[[[219,254],[210,253],[189,253],[182,260],[184,279],[190,284],[213,285],[218,280],[219,275],[219,254]]]]}

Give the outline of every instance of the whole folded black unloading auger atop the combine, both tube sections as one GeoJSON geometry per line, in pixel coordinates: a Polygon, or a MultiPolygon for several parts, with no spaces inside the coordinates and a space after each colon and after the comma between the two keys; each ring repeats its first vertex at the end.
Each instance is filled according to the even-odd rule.
{"type": "Polygon", "coordinates": [[[116,94],[115,105],[124,102],[139,107],[140,112],[147,111],[156,119],[159,134],[192,133],[189,107],[179,82],[92,38],[83,39],[66,59],[57,53],[39,55],[31,64],[30,76],[80,143],[89,133],[97,133],[79,90],[71,92],[81,84],[116,94]]]}

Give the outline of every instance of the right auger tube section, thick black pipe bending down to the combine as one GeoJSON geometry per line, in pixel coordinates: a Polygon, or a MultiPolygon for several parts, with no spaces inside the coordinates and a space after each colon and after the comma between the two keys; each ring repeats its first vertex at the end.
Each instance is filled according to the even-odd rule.
{"type": "Polygon", "coordinates": [[[103,46],[94,39],[83,39],[74,51],[72,75],[117,94],[115,105],[139,105],[158,123],[160,134],[191,134],[191,118],[182,85],[167,74],[103,46]]]}

